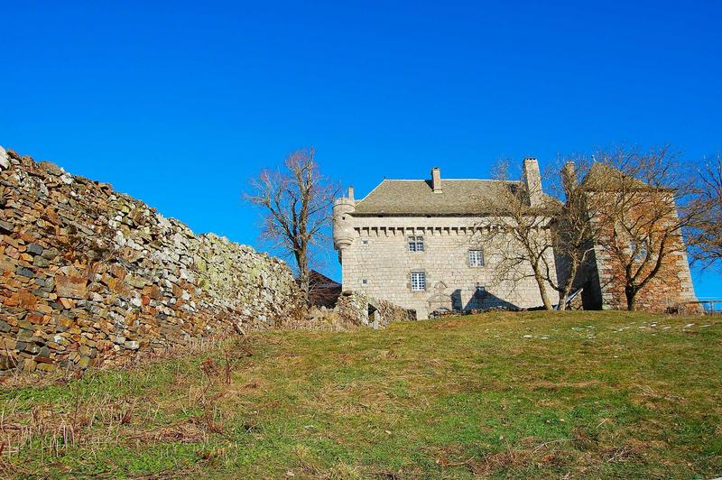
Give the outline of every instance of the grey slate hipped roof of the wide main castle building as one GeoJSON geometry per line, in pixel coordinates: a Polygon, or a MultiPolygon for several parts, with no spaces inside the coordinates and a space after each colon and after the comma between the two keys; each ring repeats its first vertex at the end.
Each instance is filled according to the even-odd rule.
{"type": "Polygon", "coordinates": [[[430,180],[384,180],[356,202],[354,215],[474,215],[485,198],[502,189],[518,189],[519,181],[441,180],[434,193],[430,180]]]}

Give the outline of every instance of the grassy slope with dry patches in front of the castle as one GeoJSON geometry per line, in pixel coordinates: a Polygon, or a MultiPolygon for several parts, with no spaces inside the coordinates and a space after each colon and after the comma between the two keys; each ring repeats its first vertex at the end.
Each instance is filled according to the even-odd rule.
{"type": "Polygon", "coordinates": [[[720,318],[498,313],[246,345],[229,385],[216,351],[5,387],[0,435],[26,442],[5,474],[722,474],[720,318]]]}

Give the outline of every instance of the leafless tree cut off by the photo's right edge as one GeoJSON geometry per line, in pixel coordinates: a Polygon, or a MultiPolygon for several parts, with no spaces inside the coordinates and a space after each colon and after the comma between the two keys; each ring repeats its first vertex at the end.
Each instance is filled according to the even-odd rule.
{"type": "Polygon", "coordinates": [[[690,247],[703,268],[722,261],[722,153],[698,171],[697,193],[691,202],[699,211],[690,226],[690,247]]]}

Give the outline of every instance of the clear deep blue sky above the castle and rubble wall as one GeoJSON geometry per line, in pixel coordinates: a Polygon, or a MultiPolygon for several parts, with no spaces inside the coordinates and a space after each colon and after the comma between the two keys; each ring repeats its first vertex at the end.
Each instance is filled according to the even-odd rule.
{"type": "Polygon", "coordinates": [[[722,2],[581,4],[2,1],[0,144],[251,245],[246,180],[311,144],[358,196],[433,165],[722,151],[722,2]]]}

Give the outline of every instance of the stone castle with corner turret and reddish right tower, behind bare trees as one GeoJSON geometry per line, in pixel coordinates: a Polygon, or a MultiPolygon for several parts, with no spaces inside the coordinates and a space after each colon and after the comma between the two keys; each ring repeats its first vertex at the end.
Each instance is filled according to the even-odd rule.
{"type": "MultiPolygon", "coordinates": [[[[541,204],[541,186],[539,164],[527,158],[518,181],[442,180],[440,169],[434,168],[429,180],[383,180],[358,200],[349,188],[333,210],[333,240],[342,266],[343,290],[363,291],[413,309],[420,319],[445,309],[541,306],[531,267],[515,275],[514,281],[496,276],[498,249],[509,248],[513,242],[504,241],[504,235],[495,231],[501,228],[498,217],[485,217],[480,207],[484,198],[498,195],[500,189],[515,188],[528,190],[530,205],[541,204]],[[487,235],[492,231],[495,235],[487,235]]],[[[538,235],[549,233],[540,229],[538,235]]],[[[547,263],[553,266],[556,261],[555,270],[563,269],[564,262],[553,257],[550,251],[547,263]]],[[[585,309],[624,304],[623,291],[611,281],[615,275],[610,268],[608,257],[595,247],[581,271],[584,278],[577,282],[584,286],[585,309]]],[[[648,298],[640,292],[643,308],[664,309],[696,300],[686,255],[671,256],[666,270],[661,281],[648,289],[648,298]]],[[[553,300],[555,291],[551,286],[547,291],[553,300]]]]}

